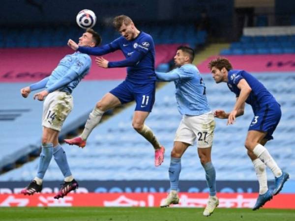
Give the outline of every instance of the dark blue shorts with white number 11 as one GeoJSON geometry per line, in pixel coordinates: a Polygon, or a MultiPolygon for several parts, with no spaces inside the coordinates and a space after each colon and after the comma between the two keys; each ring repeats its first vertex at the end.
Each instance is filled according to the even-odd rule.
{"type": "Polygon", "coordinates": [[[134,84],[123,81],[110,93],[118,97],[121,104],[135,101],[135,111],[151,112],[155,102],[155,90],[155,83],[134,84]]]}

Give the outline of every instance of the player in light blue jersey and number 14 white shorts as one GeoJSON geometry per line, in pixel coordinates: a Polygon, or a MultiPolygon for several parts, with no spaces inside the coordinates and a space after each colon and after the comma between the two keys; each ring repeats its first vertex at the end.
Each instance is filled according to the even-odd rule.
{"type": "MultiPolygon", "coordinates": [[[[79,38],[79,45],[84,47],[95,47],[100,42],[100,36],[93,29],[87,29],[79,38]]],[[[59,144],[59,132],[65,118],[73,108],[71,93],[89,73],[90,66],[91,58],[89,55],[80,52],[65,55],[49,77],[21,89],[22,96],[26,98],[31,91],[45,88],[33,96],[34,99],[37,98],[39,101],[44,100],[42,150],[37,175],[21,193],[31,195],[41,192],[43,177],[52,157],[54,157],[64,176],[64,183],[55,198],[63,197],[78,188],[78,183],[67,163],[66,154],[59,144]]]]}

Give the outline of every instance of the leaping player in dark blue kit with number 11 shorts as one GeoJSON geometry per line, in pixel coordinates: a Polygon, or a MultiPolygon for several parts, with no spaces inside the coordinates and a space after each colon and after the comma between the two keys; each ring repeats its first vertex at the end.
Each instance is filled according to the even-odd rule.
{"type": "Polygon", "coordinates": [[[154,42],[150,35],[138,30],[128,16],[120,15],[115,17],[113,24],[121,37],[110,44],[96,48],[86,48],[78,46],[71,39],[68,42],[68,45],[73,50],[89,55],[105,55],[121,50],[126,57],[124,60],[108,61],[103,57],[96,57],[95,61],[103,68],[127,67],[127,77],[125,81],[97,102],[96,107],[89,114],[83,133],[77,138],[65,139],[64,141],[71,145],[84,147],[89,134],[98,125],[105,111],[135,101],[136,107],[132,126],[153,145],[155,149],[155,166],[159,166],[164,160],[165,149],[158,142],[152,130],[145,125],[145,120],[149,112],[151,112],[155,100],[154,42]]]}

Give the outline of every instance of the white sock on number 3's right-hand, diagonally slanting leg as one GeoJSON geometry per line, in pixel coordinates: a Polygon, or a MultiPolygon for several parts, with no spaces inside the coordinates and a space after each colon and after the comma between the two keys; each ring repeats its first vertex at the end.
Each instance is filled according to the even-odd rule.
{"type": "Polygon", "coordinates": [[[280,177],[282,175],[282,170],[278,167],[263,145],[257,144],[253,149],[253,153],[272,171],[275,177],[280,177]]]}

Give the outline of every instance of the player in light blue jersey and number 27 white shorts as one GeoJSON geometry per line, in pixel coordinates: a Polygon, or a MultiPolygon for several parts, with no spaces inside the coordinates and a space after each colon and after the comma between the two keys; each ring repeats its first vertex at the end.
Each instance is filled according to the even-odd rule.
{"type": "Polygon", "coordinates": [[[173,81],[176,86],[177,108],[182,114],[174,139],[169,167],[170,193],[161,203],[161,207],[177,204],[178,179],[181,170],[181,156],[185,150],[194,145],[197,139],[198,154],[205,169],[209,199],[204,216],[210,216],[218,206],[216,197],[215,168],[211,162],[211,148],[215,121],[206,96],[206,87],[198,68],[192,64],[194,50],[187,46],[179,46],[174,57],[176,69],[169,73],[156,72],[160,81],[173,81]]]}

